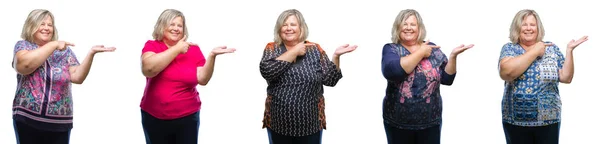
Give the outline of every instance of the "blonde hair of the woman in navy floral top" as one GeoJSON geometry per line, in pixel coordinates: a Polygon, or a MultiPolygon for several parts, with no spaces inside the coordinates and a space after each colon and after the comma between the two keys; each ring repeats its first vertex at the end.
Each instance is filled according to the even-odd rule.
{"type": "Polygon", "coordinates": [[[417,37],[417,43],[423,43],[423,40],[425,40],[425,37],[427,36],[427,29],[425,29],[425,24],[423,23],[421,15],[414,9],[405,9],[398,13],[398,16],[396,16],[396,20],[394,21],[394,26],[392,27],[393,43],[399,44],[400,41],[402,41],[402,39],[400,38],[400,30],[402,30],[402,25],[404,24],[404,21],[406,21],[406,19],[408,19],[408,17],[410,16],[415,16],[415,18],[417,19],[417,24],[419,26],[419,36],[417,37]]]}

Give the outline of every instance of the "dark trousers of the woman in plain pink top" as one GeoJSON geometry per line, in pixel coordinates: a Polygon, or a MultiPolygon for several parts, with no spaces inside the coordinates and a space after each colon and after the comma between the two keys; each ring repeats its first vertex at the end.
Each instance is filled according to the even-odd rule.
{"type": "Polygon", "coordinates": [[[146,144],[198,144],[200,112],[174,120],[161,120],[142,110],[142,127],[146,144]]]}

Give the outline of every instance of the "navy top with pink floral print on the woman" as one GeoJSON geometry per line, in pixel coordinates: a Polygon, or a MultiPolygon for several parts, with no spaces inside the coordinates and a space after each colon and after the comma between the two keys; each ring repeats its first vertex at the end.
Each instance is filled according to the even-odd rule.
{"type": "Polygon", "coordinates": [[[448,58],[438,48],[422,59],[413,72],[406,73],[400,66],[400,58],[409,54],[400,44],[383,46],[381,71],[387,79],[383,120],[393,127],[409,130],[439,125],[442,122],[440,84],[452,85],[456,75],[446,73],[448,58]]]}

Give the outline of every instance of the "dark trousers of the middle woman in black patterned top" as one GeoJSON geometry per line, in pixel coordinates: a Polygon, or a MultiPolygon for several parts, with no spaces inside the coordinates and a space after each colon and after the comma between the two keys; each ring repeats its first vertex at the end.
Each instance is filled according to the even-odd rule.
{"type": "Polygon", "coordinates": [[[295,137],[278,134],[267,128],[269,144],[321,144],[323,130],[307,136],[295,137]]]}

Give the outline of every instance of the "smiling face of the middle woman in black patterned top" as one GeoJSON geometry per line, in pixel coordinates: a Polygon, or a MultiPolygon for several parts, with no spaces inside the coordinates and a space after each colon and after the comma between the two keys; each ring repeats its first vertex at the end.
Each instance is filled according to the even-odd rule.
{"type": "Polygon", "coordinates": [[[284,42],[297,42],[300,39],[301,33],[298,18],[294,15],[287,17],[280,31],[279,35],[284,42]]]}

